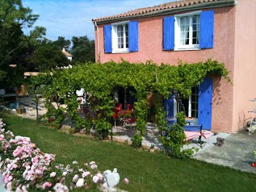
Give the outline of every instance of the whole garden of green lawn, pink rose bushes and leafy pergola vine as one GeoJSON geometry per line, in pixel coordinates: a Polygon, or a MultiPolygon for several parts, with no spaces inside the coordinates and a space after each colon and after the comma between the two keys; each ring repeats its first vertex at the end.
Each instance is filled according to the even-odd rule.
{"type": "MultiPolygon", "coordinates": [[[[250,173],[225,167],[220,169],[220,166],[187,159],[193,154],[193,148],[183,149],[186,138],[183,131],[186,122],[184,111],[176,115],[177,123],[171,129],[166,125],[163,99],[170,95],[187,98],[191,94],[191,87],[199,86],[205,77],[225,77],[230,81],[228,74],[224,64],[211,60],[195,64],[179,61],[178,65],[156,65],[151,61],[145,64],[110,61],[105,64],[77,64],[72,69],[52,70],[31,77],[30,84],[35,90],[44,87],[43,96],[48,111],[37,121],[1,113],[7,130],[1,133],[1,170],[4,178],[8,178],[5,181],[7,188],[48,191],[56,190],[54,187],[59,185],[65,190],[99,190],[104,183],[102,171],[114,168],[120,173],[118,187],[128,191],[210,188],[212,191],[238,191],[245,189],[245,183],[248,183],[248,189],[250,186],[255,187],[250,185],[250,181],[255,178],[250,173]],[[113,126],[113,91],[118,87],[135,90],[132,92],[136,98],[132,111],[136,119],[135,135],[132,138],[134,148],[105,140],[113,126]],[[78,114],[80,103],[76,90],[81,88],[88,95],[84,107],[90,109],[90,115],[86,118],[78,114]],[[153,119],[160,131],[167,132],[161,138],[166,148],[164,152],[150,153],[141,148],[148,119],[149,94],[155,100],[153,119]],[[56,102],[57,107],[53,107],[52,102],[56,102]],[[74,136],[59,131],[65,118],[71,119],[73,132],[85,130],[86,135],[74,136]],[[92,127],[103,141],[90,135],[92,127]],[[15,136],[29,137],[31,142],[26,139],[15,140],[15,136]],[[28,148],[28,155],[24,157],[19,151],[18,156],[21,157],[11,159],[16,148],[23,146],[28,148]],[[35,158],[36,162],[41,163],[34,165],[35,158]],[[37,168],[40,168],[40,174],[37,168]],[[27,177],[27,173],[31,173],[31,176],[27,177]],[[233,179],[236,180],[235,187],[233,179]]],[[[35,102],[38,102],[37,97],[35,102]]]]}

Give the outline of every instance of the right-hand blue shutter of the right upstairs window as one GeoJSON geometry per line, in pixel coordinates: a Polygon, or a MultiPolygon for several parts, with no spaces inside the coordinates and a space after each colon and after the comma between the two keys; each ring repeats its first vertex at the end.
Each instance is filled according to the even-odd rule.
{"type": "Polygon", "coordinates": [[[200,48],[213,48],[214,11],[202,11],[200,14],[200,48]]]}

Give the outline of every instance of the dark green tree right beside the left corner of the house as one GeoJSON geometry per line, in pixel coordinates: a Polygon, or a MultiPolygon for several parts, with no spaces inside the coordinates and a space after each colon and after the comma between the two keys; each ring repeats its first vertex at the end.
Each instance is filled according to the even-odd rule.
{"type": "Polygon", "coordinates": [[[73,55],[73,61],[82,63],[95,62],[94,40],[89,40],[87,36],[73,36],[72,43],[71,54],[73,55]]]}

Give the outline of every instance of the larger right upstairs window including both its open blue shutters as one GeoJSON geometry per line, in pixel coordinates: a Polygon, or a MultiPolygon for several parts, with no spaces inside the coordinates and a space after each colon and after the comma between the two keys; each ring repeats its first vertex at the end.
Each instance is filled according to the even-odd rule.
{"type": "Polygon", "coordinates": [[[213,48],[214,11],[196,11],[163,19],[163,50],[213,48]]]}

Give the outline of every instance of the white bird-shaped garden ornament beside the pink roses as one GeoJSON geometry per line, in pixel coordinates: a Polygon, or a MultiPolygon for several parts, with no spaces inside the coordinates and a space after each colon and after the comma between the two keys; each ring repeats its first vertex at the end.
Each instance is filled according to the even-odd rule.
{"type": "Polygon", "coordinates": [[[106,170],[103,172],[104,182],[107,182],[107,191],[116,191],[115,186],[120,182],[120,175],[115,168],[113,172],[106,170]]]}

